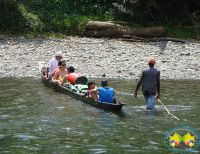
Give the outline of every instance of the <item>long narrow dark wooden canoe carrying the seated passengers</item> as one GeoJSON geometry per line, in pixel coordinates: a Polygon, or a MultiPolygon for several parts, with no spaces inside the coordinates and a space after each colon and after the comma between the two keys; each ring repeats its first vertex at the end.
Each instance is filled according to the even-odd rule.
{"type": "MultiPolygon", "coordinates": [[[[39,64],[39,65],[41,65],[41,64],[39,64]]],[[[106,102],[98,102],[98,101],[92,100],[90,98],[84,97],[84,96],[72,91],[69,88],[59,86],[57,84],[54,84],[52,82],[52,80],[46,79],[42,73],[42,67],[39,66],[39,68],[40,68],[41,80],[42,80],[43,84],[46,85],[47,87],[50,87],[50,88],[58,91],[58,92],[67,94],[77,100],[80,100],[86,104],[90,104],[96,108],[100,108],[100,109],[112,111],[112,112],[121,111],[122,107],[125,105],[122,102],[119,102],[118,104],[111,104],[111,103],[106,103],[106,102]]],[[[43,67],[43,69],[44,69],[44,67],[43,67]]]]}

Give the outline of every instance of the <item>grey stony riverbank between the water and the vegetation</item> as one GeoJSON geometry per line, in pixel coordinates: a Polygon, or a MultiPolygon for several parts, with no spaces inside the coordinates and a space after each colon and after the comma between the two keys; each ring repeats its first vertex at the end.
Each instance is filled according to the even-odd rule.
{"type": "Polygon", "coordinates": [[[68,37],[31,39],[0,36],[0,77],[39,77],[38,61],[48,62],[56,51],[68,65],[89,77],[139,78],[148,57],[155,57],[162,79],[200,79],[200,43],[124,42],[68,37]]]}

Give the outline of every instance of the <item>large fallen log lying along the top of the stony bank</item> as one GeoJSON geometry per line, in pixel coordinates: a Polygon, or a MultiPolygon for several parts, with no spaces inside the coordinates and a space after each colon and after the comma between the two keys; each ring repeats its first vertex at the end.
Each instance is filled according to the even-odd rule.
{"type": "Polygon", "coordinates": [[[90,21],[86,24],[85,34],[91,37],[161,37],[165,29],[161,26],[138,27],[123,26],[111,22],[90,21]]]}

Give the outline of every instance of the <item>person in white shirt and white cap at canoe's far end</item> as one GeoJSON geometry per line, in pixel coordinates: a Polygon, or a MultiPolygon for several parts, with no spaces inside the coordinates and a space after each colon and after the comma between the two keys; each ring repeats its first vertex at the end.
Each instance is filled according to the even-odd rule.
{"type": "Polygon", "coordinates": [[[48,62],[47,70],[45,72],[46,78],[51,77],[51,74],[55,68],[58,67],[58,62],[63,58],[61,51],[56,52],[55,57],[48,62]]]}

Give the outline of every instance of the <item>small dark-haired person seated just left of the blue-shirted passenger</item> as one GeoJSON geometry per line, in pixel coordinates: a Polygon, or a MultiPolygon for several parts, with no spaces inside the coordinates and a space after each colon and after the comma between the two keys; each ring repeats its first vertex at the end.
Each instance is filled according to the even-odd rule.
{"type": "Polygon", "coordinates": [[[96,91],[95,82],[88,82],[87,86],[88,86],[88,89],[87,89],[87,92],[85,93],[85,96],[97,101],[98,100],[98,94],[97,94],[97,91],[96,91]]]}

